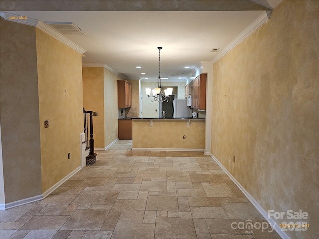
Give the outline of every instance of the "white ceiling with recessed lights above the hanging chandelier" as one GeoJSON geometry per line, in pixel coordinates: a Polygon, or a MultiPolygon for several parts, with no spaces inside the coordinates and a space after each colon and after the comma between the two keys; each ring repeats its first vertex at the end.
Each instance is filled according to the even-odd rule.
{"type": "MultiPolygon", "coordinates": [[[[257,0],[258,1],[258,0],[257,0]]],[[[255,0],[255,2],[257,2],[255,0]]],[[[280,1],[261,1],[268,8],[280,1]]],[[[127,79],[159,76],[185,81],[211,61],[263,11],[10,11],[47,21],[73,22],[86,35],[64,35],[85,49],[83,64],[107,65],[127,79]],[[219,48],[218,52],[210,52],[219,48]],[[137,69],[136,66],[141,66],[137,69]],[[189,66],[189,69],[185,69],[189,66]],[[141,73],[146,73],[141,75],[141,73]],[[178,76],[172,76],[177,74],[178,76]],[[182,77],[182,79],[178,79],[182,77]]]]}

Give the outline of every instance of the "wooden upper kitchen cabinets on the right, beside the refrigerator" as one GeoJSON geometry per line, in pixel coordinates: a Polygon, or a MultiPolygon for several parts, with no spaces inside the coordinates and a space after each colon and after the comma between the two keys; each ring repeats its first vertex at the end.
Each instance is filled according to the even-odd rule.
{"type": "Polygon", "coordinates": [[[206,80],[207,74],[202,73],[185,87],[193,109],[206,110],[206,80]]]}

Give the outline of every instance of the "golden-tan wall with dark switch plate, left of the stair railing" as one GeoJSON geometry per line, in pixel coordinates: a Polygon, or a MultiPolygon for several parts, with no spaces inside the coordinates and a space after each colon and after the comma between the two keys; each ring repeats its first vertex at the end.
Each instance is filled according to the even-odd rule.
{"type": "Polygon", "coordinates": [[[36,29],[42,192],[81,165],[81,54],[36,29]],[[49,127],[44,128],[44,121],[49,127]],[[71,158],[68,159],[68,153],[71,158]]]}

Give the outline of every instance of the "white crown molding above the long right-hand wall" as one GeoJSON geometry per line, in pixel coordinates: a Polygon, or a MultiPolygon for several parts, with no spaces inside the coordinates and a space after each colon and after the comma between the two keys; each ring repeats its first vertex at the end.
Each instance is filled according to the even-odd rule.
{"type": "Polygon", "coordinates": [[[251,23],[242,33],[240,33],[228,46],[226,46],[217,56],[212,59],[212,63],[215,63],[224,55],[226,55],[231,49],[238,45],[242,40],[253,33],[258,27],[264,24],[269,19],[269,12],[264,11],[253,23],[251,23]]]}

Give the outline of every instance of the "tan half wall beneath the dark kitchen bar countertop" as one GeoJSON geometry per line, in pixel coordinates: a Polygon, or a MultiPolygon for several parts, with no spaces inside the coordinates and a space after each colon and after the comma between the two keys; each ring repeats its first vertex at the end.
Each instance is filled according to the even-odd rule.
{"type": "Polygon", "coordinates": [[[133,148],[205,148],[205,120],[135,119],[132,124],[133,148]],[[183,135],[186,139],[183,139],[183,135]]]}

